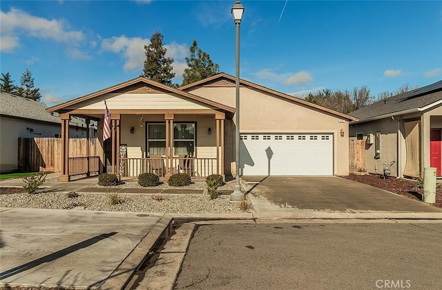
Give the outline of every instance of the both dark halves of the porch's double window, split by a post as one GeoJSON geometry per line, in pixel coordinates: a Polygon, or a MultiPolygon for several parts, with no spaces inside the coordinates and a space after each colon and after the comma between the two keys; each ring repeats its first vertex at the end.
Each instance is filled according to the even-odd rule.
{"type": "MultiPolygon", "coordinates": [[[[166,155],[166,124],[147,126],[148,155],[166,155]]],[[[173,123],[173,154],[195,155],[195,123],[173,123]]]]}

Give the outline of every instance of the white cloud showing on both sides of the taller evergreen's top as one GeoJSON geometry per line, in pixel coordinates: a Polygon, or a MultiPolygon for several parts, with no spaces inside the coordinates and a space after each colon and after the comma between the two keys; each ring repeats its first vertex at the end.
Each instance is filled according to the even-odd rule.
{"type": "MultiPolygon", "coordinates": [[[[111,37],[102,39],[102,50],[119,53],[124,57],[124,69],[126,71],[133,71],[141,69],[144,66],[146,55],[144,54],[144,46],[151,43],[150,39],[143,39],[140,37],[126,37],[124,35],[119,37],[111,37]]],[[[187,46],[184,44],[164,44],[167,48],[166,57],[173,57],[173,72],[176,77],[182,75],[186,67],[184,57],[187,55],[187,46]]]]}

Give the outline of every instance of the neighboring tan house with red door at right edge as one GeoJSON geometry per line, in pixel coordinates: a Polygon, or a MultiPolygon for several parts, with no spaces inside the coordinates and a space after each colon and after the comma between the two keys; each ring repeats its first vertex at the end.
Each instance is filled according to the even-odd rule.
{"type": "Polygon", "coordinates": [[[442,80],[385,98],[350,113],[350,138],[365,143],[365,168],[382,173],[394,161],[393,176],[420,177],[424,167],[441,172],[442,80]]]}

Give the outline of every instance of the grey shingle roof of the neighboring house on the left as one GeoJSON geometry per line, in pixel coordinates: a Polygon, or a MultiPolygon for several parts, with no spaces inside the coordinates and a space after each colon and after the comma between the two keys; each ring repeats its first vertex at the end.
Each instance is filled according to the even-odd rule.
{"type": "Polygon", "coordinates": [[[46,111],[46,106],[20,96],[10,93],[0,93],[0,115],[11,116],[14,118],[24,118],[30,120],[39,120],[50,123],[61,123],[59,116],[52,116],[46,111]]]}

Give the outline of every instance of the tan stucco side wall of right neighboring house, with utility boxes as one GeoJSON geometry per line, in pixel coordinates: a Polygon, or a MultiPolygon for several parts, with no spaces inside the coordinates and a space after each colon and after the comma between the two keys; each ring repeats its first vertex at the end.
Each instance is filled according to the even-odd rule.
{"type": "Polygon", "coordinates": [[[356,134],[363,133],[365,140],[365,169],[369,173],[383,173],[383,163],[395,161],[391,167],[392,176],[397,176],[397,132],[398,122],[391,118],[350,125],[350,138],[356,139],[356,134]],[[381,158],[375,159],[375,143],[367,143],[367,134],[375,135],[381,132],[379,149],[381,158]]]}

